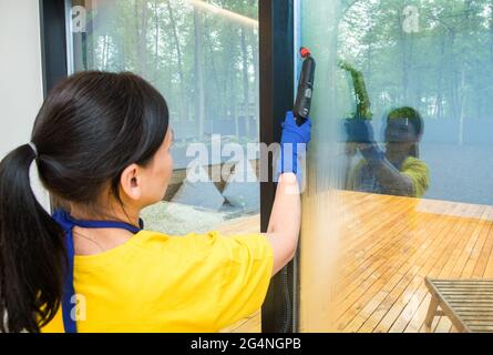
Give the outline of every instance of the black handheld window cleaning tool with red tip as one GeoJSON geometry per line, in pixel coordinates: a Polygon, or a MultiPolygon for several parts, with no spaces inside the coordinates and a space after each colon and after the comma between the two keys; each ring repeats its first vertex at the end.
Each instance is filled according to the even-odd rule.
{"type": "Polygon", "coordinates": [[[301,47],[299,53],[304,59],[304,63],[301,73],[299,74],[298,92],[292,111],[296,116],[296,123],[301,125],[306,122],[308,115],[310,114],[311,97],[314,94],[315,69],[317,64],[308,48],[301,47]]]}

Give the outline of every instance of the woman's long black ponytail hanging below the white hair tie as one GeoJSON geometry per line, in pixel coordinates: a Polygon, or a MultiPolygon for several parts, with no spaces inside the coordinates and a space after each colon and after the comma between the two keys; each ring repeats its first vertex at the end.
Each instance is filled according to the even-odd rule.
{"type": "Polygon", "coordinates": [[[40,332],[60,306],[63,231],[31,189],[35,159],[25,144],[0,162],[0,332],[40,332]]]}

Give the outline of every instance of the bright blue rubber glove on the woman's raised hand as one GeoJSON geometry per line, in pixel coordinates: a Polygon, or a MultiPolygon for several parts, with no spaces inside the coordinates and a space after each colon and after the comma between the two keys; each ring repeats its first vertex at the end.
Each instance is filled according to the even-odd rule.
{"type": "Polygon", "coordinates": [[[280,140],[280,155],[277,164],[277,174],[295,173],[298,182],[301,183],[301,170],[298,169],[299,160],[307,151],[307,144],[311,140],[311,121],[308,119],[304,124],[296,124],[295,115],[291,111],[286,113],[283,123],[283,135],[280,140]]]}

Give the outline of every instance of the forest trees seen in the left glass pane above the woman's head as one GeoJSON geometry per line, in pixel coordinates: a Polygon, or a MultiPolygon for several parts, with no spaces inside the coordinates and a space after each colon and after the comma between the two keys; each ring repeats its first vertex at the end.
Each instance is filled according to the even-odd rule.
{"type": "Polygon", "coordinates": [[[257,0],[72,1],[73,70],[132,71],[165,97],[178,141],[258,141],[257,0]]]}

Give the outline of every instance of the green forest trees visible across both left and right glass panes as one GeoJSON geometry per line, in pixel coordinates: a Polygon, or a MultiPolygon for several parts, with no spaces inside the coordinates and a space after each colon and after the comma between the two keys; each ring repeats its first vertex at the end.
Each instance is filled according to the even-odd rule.
{"type": "MultiPolygon", "coordinates": [[[[166,98],[178,140],[204,141],[214,132],[258,141],[258,0],[74,0],[72,6],[86,12],[84,31],[73,31],[75,71],[143,75],[166,98]]],[[[476,138],[493,113],[493,0],[330,6],[337,9],[337,41],[321,41],[363,73],[376,119],[405,104],[430,128],[446,121],[436,123],[443,134],[429,135],[436,141],[487,141],[476,138]]],[[[350,114],[351,85],[343,80],[336,85],[343,108],[338,112],[350,114]]]]}

